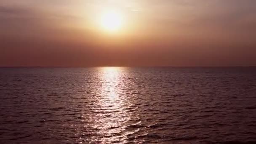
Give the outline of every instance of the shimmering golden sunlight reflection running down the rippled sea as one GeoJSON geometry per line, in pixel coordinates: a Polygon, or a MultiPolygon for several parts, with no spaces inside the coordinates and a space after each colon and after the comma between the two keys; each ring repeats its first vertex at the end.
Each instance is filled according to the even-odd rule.
{"type": "MultiPolygon", "coordinates": [[[[136,133],[140,129],[129,130],[129,126],[137,125],[141,121],[136,121],[136,114],[131,111],[132,99],[128,96],[128,85],[123,79],[125,77],[125,67],[101,67],[99,68],[99,91],[96,93],[98,102],[96,103],[93,128],[101,138],[93,139],[101,142],[126,143],[128,135],[136,133]]],[[[93,142],[93,141],[92,141],[93,142]]]]}

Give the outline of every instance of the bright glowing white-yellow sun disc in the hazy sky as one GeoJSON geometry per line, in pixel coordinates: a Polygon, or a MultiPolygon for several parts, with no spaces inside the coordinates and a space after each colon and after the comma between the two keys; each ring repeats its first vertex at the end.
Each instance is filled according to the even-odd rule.
{"type": "Polygon", "coordinates": [[[107,31],[117,31],[122,27],[122,15],[116,11],[108,11],[101,16],[101,26],[107,31]]]}

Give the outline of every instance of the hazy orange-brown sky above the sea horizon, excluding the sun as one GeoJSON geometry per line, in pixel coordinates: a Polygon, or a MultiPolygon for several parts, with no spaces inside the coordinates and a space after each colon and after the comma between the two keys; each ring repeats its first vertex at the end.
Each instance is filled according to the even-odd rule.
{"type": "Polygon", "coordinates": [[[1,0],[0,66],[256,66],[256,0],[1,0]],[[102,29],[106,11],[122,26],[102,29]]]}

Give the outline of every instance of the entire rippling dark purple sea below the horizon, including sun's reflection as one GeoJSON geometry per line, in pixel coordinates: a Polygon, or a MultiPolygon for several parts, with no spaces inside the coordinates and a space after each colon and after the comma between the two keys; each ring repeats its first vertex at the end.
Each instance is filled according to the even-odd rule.
{"type": "Polygon", "coordinates": [[[256,68],[0,68],[0,144],[256,143],[256,68]]]}

